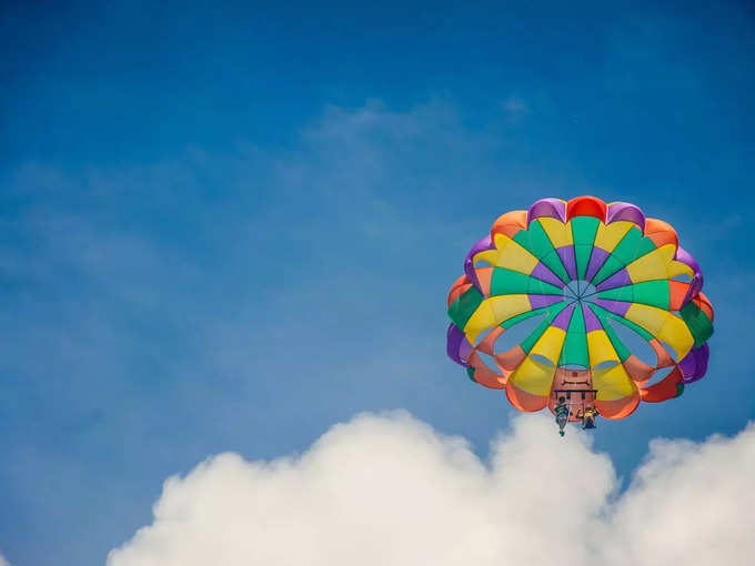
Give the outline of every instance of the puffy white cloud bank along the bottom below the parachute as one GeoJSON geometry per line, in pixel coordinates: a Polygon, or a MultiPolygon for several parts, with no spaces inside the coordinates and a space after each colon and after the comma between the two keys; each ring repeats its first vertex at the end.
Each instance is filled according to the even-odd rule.
{"type": "Polygon", "coordinates": [[[333,426],[301,456],[221,454],[169,478],[108,566],[747,564],[755,426],[653,441],[620,494],[572,427],[520,416],[485,463],[404,412],[333,426]]]}

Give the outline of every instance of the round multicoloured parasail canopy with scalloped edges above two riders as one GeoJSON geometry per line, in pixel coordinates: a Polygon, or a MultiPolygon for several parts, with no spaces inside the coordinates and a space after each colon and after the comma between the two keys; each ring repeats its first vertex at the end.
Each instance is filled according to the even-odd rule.
{"type": "Polygon", "coordinates": [[[705,374],[713,307],[702,287],[666,222],[625,202],[542,199],[503,214],[466,255],[449,293],[449,356],[521,411],[587,392],[602,416],[624,418],[705,374]],[[538,324],[524,340],[496,348],[531,317],[538,324]],[[625,345],[627,330],[655,363],[625,345]]]}

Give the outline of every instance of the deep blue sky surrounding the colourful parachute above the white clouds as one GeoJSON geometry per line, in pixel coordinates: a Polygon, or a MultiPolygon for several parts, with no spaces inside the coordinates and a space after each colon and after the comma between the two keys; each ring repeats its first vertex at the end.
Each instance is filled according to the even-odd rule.
{"type": "Polygon", "coordinates": [[[755,416],[746,4],[1,10],[11,564],[102,564],[169,475],[362,411],[484,456],[512,410],[446,360],[445,293],[542,196],[670,221],[716,306],[706,378],[601,423],[620,475],[755,416]]]}

